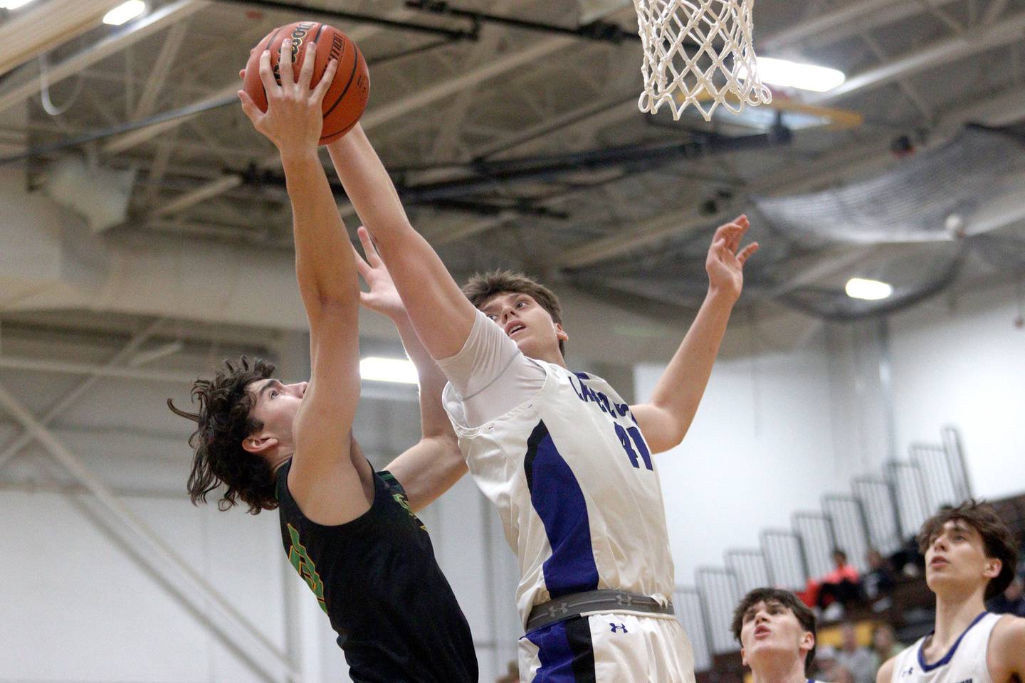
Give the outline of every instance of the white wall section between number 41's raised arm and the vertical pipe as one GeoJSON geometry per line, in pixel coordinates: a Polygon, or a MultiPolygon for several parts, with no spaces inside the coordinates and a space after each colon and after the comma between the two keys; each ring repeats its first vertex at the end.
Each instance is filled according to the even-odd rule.
{"type": "MultiPolygon", "coordinates": [[[[731,326],[731,335],[747,333],[731,326]]],[[[820,341],[715,364],[687,438],[657,456],[678,584],[722,565],[728,548],[757,547],[763,527],[787,526],[791,511],[816,507],[824,486],[843,482],[828,369],[820,341]]],[[[662,370],[637,368],[638,401],[662,370]]]]}

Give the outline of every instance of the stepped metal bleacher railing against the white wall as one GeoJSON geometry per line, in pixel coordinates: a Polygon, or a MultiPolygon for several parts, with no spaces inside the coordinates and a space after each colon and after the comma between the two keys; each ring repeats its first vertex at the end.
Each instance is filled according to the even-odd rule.
{"type": "Polygon", "coordinates": [[[943,505],[971,497],[960,437],[945,427],[940,443],[914,443],[908,461],[886,464],[880,475],[859,476],[851,493],[826,494],[822,509],[791,515],[791,528],[763,529],[761,548],[732,548],[724,567],[697,569],[697,586],[678,586],[676,616],[694,646],[695,669],[708,671],[715,654],[736,651],[733,609],[752,588],[804,590],[809,579],[833,569],[842,548],[859,570],[869,548],[890,555],[943,505]]]}

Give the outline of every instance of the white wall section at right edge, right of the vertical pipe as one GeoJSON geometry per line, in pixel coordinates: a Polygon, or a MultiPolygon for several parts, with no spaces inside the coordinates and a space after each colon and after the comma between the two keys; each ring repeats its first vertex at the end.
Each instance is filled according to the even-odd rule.
{"type": "Polygon", "coordinates": [[[1011,286],[939,298],[891,321],[897,439],[960,430],[974,493],[1025,492],[1025,315],[1011,286]]]}

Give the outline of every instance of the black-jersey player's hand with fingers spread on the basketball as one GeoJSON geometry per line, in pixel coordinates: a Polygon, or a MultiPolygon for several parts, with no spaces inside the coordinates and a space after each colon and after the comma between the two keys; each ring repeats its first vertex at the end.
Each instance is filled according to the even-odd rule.
{"type": "Polygon", "coordinates": [[[324,94],[331,87],[338,62],[332,59],[324,70],[317,87],[311,89],[316,49],[315,43],[306,44],[302,69],[299,70],[298,80],[295,80],[292,69],[292,41],[283,40],[281,57],[278,60],[280,85],[271,70],[271,51],[263,50],[259,57],[259,77],[266,92],[266,112],[260,112],[252,97],[244,90],[239,90],[242,111],[249,117],[253,127],[274,142],[282,155],[316,151],[320,141],[321,130],[324,127],[321,103],[324,94]]]}

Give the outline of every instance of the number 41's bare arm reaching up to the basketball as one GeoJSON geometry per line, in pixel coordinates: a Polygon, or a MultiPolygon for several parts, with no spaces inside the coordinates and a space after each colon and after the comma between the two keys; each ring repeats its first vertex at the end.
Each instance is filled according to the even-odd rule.
{"type": "Polygon", "coordinates": [[[341,184],[387,263],[409,319],[434,358],[462,349],[474,326],[473,304],[406,217],[395,185],[363,128],[328,144],[341,184]]]}

